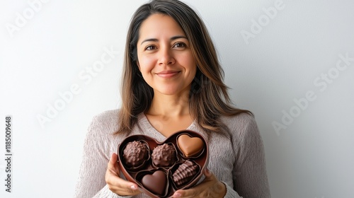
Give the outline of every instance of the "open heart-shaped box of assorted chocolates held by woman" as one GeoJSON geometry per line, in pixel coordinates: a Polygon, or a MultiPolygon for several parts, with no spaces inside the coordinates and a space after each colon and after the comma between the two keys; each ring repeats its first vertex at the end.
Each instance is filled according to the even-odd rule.
{"type": "MultiPolygon", "coordinates": [[[[209,148],[203,136],[191,130],[176,132],[163,142],[156,141],[156,139],[146,135],[127,136],[119,144],[117,151],[118,165],[125,178],[130,182],[137,183],[139,190],[154,198],[171,197],[176,190],[188,189],[196,185],[203,175],[203,170],[207,167],[208,152],[209,148]],[[147,158],[138,168],[127,165],[123,153],[127,144],[133,141],[145,144],[147,152],[149,152],[147,158]],[[200,144],[202,144],[202,148],[200,148],[200,144]],[[154,153],[156,147],[161,146],[172,146],[171,148],[176,150],[176,158],[173,156],[175,161],[172,165],[159,166],[154,164],[152,153],[154,153]],[[180,165],[181,168],[179,168],[180,165]],[[190,169],[192,165],[193,171],[190,169]],[[173,175],[173,173],[176,174],[173,175]],[[187,178],[183,178],[183,180],[181,177],[187,178]]],[[[162,152],[161,155],[163,154],[166,154],[166,152],[162,152]]],[[[159,156],[159,158],[161,157],[166,156],[159,156]]]]}

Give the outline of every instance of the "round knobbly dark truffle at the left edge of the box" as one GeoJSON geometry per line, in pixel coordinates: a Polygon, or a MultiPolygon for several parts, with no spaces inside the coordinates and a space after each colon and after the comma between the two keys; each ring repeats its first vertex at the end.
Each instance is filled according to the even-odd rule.
{"type": "Polygon", "coordinates": [[[123,150],[123,158],[127,166],[137,168],[149,158],[149,149],[140,141],[130,141],[123,150]]]}

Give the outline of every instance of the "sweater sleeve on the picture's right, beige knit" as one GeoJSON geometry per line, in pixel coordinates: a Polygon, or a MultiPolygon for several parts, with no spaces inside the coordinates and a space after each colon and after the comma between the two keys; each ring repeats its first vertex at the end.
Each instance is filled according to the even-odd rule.
{"type": "Polygon", "coordinates": [[[248,114],[241,114],[239,118],[230,123],[236,156],[232,171],[234,190],[237,196],[244,198],[269,198],[265,153],[256,120],[248,114]]]}

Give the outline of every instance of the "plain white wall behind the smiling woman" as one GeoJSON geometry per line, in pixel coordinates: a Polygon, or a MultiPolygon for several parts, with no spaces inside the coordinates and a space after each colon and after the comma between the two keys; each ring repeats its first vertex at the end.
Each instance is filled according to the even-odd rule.
{"type": "MultiPolygon", "coordinates": [[[[120,107],[127,25],[144,1],[48,1],[36,11],[33,1],[0,3],[0,153],[5,116],[13,117],[13,192],[1,157],[0,197],[72,197],[91,118],[120,107]],[[89,81],[86,68],[105,48],[113,59],[89,81]],[[79,93],[41,127],[38,115],[75,84],[79,93]]],[[[354,58],[353,1],[284,0],[272,18],[264,9],[275,0],[185,2],[210,30],[232,100],[256,115],[272,197],[354,197],[354,62],[336,69],[339,54],[354,58]],[[241,32],[259,20],[245,40],[241,32]],[[315,99],[306,105],[307,92],[315,99]],[[277,133],[273,122],[286,129],[277,133]]]]}

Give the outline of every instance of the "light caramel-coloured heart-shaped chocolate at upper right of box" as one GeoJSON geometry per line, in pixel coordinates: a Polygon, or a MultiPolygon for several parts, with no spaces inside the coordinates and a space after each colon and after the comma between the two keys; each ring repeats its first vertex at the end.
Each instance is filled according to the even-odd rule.
{"type": "Polygon", "coordinates": [[[181,149],[185,157],[198,156],[203,148],[204,142],[199,137],[191,137],[187,134],[178,136],[178,148],[181,149]]]}

